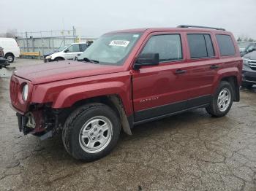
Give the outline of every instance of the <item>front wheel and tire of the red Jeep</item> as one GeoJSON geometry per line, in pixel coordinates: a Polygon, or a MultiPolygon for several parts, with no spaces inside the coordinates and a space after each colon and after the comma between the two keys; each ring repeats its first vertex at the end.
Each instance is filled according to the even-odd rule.
{"type": "Polygon", "coordinates": [[[110,153],[120,130],[120,120],[113,109],[105,104],[86,104],[67,118],[62,141],[72,157],[89,162],[110,153]]]}

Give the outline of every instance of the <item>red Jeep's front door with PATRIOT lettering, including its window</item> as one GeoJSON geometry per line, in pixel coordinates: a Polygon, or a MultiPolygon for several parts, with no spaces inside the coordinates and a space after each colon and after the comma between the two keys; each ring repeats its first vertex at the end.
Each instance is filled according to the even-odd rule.
{"type": "Polygon", "coordinates": [[[159,53],[158,66],[132,71],[135,121],[178,112],[187,107],[186,48],[179,32],[153,33],[140,54],[159,53]]]}

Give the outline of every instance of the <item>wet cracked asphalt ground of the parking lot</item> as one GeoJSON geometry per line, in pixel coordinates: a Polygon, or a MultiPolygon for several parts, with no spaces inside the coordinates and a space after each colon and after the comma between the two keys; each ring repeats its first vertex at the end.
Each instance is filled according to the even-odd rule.
{"type": "Polygon", "coordinates": [[[59,136],[18,131],[9,81],[0,78],[0,190],[256,190],[256,88],[241,90],[226,117],[196,109],[139,125],[107,157],[82,163],[59,136]]]}

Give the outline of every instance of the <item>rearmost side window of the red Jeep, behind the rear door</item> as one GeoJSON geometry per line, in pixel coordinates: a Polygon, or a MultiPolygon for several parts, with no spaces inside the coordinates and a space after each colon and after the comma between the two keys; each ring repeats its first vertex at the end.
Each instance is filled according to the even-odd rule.
{"type": "Polygon", "coordinates": [[[226,34],[217,34],[217,42],[219,45],[220,55],[235,55],[236,50],[231,36],[226,34]]]}

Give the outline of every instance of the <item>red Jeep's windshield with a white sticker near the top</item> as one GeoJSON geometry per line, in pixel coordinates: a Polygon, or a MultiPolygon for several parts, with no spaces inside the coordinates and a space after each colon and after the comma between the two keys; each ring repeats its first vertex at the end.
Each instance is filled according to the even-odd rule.
{"type": "Polygon", "coordinates": [[[97,39],[79,57],[78,61],[91,60],[108,65],[122,65],[140,34],[105,34],[97,39]]]}

